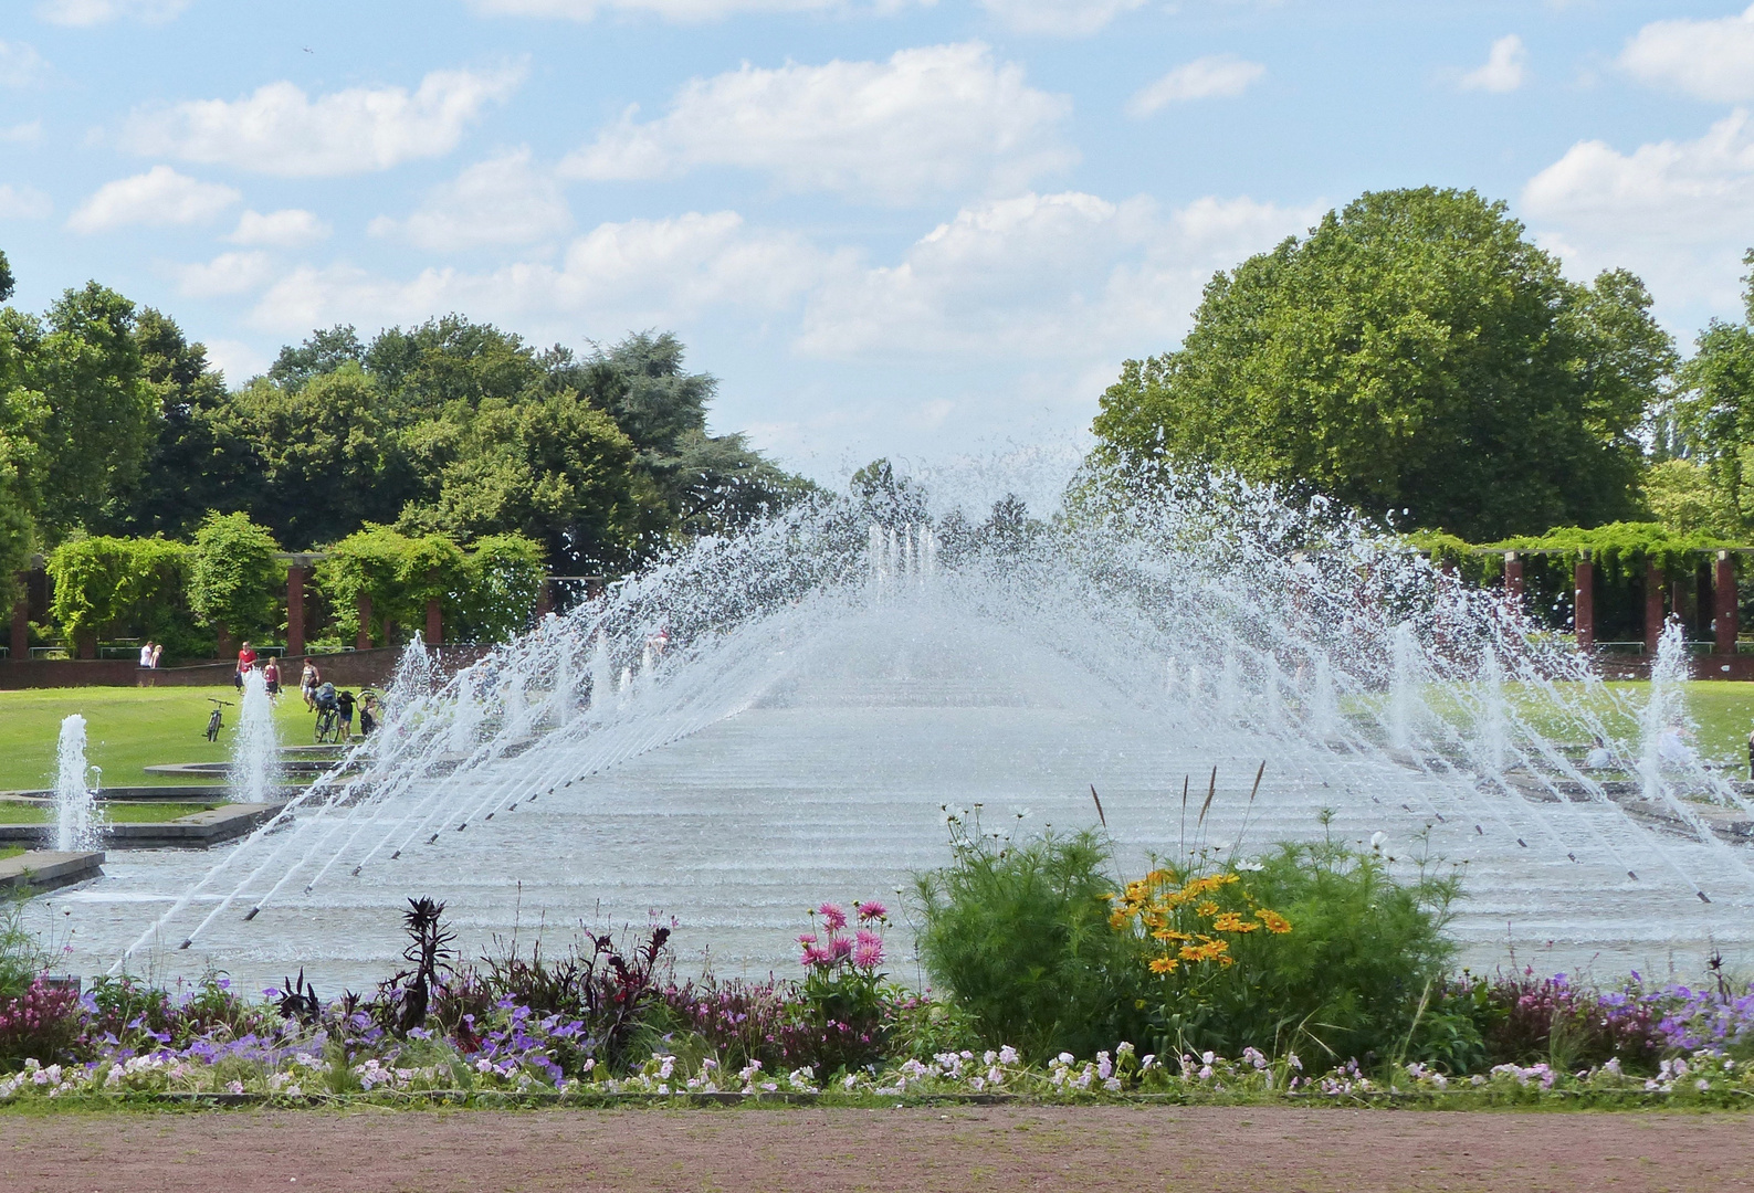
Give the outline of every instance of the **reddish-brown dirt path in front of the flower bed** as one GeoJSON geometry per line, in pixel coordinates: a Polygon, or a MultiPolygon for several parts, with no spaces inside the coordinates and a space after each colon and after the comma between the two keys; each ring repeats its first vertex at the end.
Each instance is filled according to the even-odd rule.
{"type": "Polygon", "coordinates": [[[1279,1107],[0,1116],[7,1193],[1754,1188],[1745,1114],[1279,1107]]]}

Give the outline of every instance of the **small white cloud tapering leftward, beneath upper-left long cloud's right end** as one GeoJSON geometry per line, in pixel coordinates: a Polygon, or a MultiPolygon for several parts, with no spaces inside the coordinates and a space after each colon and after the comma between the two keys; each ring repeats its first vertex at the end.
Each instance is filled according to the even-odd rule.
{"type": "Polygon", "coordinates": [[[421,249],[451,251],[530,244],[570,226],[572,212],[554,175],[533,168],[528,149],[514,149],[435,187],[407,219],[379,215],[370,231],[403,236],[421,249]]]}

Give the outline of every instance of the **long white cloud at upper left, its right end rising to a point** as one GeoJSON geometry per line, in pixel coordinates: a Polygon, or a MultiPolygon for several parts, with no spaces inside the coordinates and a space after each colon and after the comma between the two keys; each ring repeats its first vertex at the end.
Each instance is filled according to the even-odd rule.
{"type": "Polygon", "coordinates": [[[139,154],[223,163],[282,177],[365,173],[451,152],[489,103],[509,96],[523,68],[435,70],[407,88],[349,88],[312,100],[270,82],[237,100],[193,100],[137,110],[123,144],[139,154]]]}

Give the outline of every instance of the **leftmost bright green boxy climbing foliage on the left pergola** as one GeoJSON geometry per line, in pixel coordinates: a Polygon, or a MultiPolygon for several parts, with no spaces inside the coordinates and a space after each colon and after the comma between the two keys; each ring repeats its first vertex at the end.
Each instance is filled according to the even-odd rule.
{"type": "Polygon", "coordinates": [[[47,555],[54,599],[49,617],[68,643],[133,629],[186,636],[182,587],[191,550],[161,538],[74,538],[47,555]]]}

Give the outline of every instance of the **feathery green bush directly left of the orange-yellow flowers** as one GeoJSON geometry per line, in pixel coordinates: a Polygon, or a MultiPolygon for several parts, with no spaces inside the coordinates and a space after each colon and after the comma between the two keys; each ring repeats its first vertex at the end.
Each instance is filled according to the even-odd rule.
{"type": "Polygon", "coordinates": [[[1024,844],[951,822],[954,862],[916,881],[926,972],[988,1041],[1031,1056],[1093,1055],[1144,1021],[1147,971],[1109,927],[1109,843],[1093,832],[1024,844]]]}

